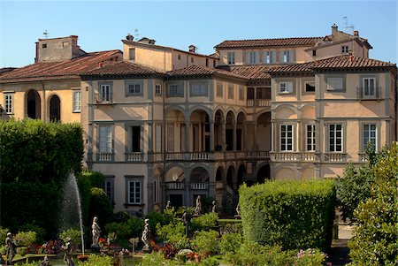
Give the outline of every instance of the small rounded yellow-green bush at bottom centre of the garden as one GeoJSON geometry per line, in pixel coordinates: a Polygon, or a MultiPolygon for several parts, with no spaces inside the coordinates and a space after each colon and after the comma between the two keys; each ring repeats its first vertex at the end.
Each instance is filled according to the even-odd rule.
{"type": "Polygon", "coordinates": [[[219,250],[217,238],[218,232],[214,230],[196,232],[194,239],[191,240],[191,245],[201,254],[217,254],[219,250]]]}

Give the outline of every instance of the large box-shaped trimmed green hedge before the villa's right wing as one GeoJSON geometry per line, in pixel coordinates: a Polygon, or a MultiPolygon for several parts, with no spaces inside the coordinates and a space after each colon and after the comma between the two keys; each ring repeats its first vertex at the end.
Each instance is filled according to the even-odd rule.
{"type": "Polygon", "coordinates": [[[245,239],[286,249],[330,247],[333,180],[268,181],[241,186],[239,193],[245,239]]]}

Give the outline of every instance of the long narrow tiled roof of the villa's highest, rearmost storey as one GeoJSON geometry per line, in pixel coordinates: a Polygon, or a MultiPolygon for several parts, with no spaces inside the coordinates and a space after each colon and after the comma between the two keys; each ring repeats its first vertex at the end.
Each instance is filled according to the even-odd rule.
{"type": "Polygon", "coordinates": [[[278,38],[278,39],[256,39],[256,40],[235,40],[224,41],[215,48],[244,48],[244,47],[267,47],[267,46],[295,46],[314,45],[322,37],[298,37],[298,38],[278,38]]]}

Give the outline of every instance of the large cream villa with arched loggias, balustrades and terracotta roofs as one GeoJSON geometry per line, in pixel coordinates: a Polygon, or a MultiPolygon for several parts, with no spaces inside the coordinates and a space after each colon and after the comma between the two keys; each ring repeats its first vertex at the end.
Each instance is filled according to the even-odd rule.
{"type": "Polygon", "coordinates": [[[396,140],[396,65],[370,59],[358,32],[333,25],[325,37],[225,41],[210,56],[131,35],[122,42],[123,55],[75,49],[0,75],[11,116],[50,121],[51,95],[66,103],[58,120],[80,121],[84,163],[105,175],[115,210],[194,206],[206,195],[228,212],[243,182],[336,178],[346,163],[364,163],[369,143],[396,140]],[[51,67],[41,64],[58,72],[42,81],[51,67]],[[47,104],[35,117],[33,88],[47,104]]]}

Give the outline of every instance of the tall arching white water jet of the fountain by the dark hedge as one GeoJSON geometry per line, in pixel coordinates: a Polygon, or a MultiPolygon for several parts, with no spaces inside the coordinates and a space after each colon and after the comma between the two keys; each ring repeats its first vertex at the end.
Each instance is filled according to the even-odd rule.
{"type": "Polygon", "coordinates": [[[80,193],[76,177],[74,176],[72,171],[68,174],[68,178],[64,186],[63,195],[61,228],[73,228],[77,223],[79,223],[81,236],[81,252],[84,256],[83,219],[81,217],[80,193]],[[76,213],[78,214],[79,220],[76,220],[76,213]]]}

